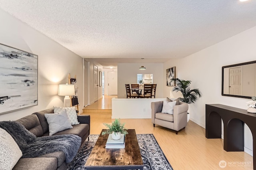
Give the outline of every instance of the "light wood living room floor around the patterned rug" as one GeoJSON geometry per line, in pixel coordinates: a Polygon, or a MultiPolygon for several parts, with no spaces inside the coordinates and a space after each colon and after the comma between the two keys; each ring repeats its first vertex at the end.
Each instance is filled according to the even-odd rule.
{"type": "MultiPolygon", "coordinates": [[[[102,123],[111,123],[112,121],[114,120],[110,118],[91,116],[90,133],[100,134],[102,128],[106,128],[102,123]]],[[[207,139],[205,129],[192,121],[189,121],[187,127],[178,135],[168,128],[158,125],[153,127],[151,119],[121,119],[121,122],[125,123],[126,128],[135,129],[137,134],[154,134],[174,170],[253,169],[252,156],[246,152],[226,152],[223,149],[222,139],[207,139]],[[221,160],[226,161],[226,168],[220,168],[221,160]],[[244,163],[247,166],[241,165],[244,163]],[[229,166],[229,164],[233,166],[229,166]]]]}

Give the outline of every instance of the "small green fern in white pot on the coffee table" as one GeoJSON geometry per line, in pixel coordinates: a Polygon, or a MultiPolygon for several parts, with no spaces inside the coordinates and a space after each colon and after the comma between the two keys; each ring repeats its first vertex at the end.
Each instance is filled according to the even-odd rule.
{"type": "Polygon", "coordinates": [[[124,127],[124,124],[125,123],[120,122],[120,119],[115,119],[115,121],[112,122],[111,125],[103,123],[103,125],[105,125],[108,130],[102,132],[102,135],[111,134],[114,140],[118,140],[121,138],[121,134],[124,134],[124,136],[128,134],[127,129],[124,127]]]}

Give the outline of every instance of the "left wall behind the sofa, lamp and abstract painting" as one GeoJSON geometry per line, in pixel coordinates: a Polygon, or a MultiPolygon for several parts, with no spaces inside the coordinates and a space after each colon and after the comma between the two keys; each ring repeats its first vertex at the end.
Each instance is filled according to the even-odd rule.
{"type": "Polygon", "coordinates": [[[71,77],[76,75],[78,100],[83,103],[83,59],[80,56],[3,10],[0,10],[0,23],[0,43],[38,55],[38,105],[2,114],[0,121],[17,120],[52,106],[63,106],[64,96],[58,96],[58,85],[68,83],[68,73],[71,77]]]}

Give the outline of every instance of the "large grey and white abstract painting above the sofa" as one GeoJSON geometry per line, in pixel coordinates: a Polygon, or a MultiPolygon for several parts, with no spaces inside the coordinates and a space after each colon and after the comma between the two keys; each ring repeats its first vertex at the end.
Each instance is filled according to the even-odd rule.
{"type": "Polygon", "coordinates": [[[0,114],[38,105],[38,55],[0,43],[0,114]]]}

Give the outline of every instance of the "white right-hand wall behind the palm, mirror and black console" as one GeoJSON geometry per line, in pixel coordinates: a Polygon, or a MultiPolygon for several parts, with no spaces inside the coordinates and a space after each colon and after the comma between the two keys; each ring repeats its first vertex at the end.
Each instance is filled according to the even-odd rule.
{"type": "MultiPolygon", "coordinates": [[[[198,88],[202,92],[202,97],[189,105],[190,120],[205,127],[206,104],[218,103],[241,109],[248,108],[246,101],[249,99],[221,95],[222,66],[256,60],[255,37],[256,27],[253,27],[188,57],[171,59],[164,63],[163,76],[166,69],[176,66],[176,76],[191,80],[192,89],[198,88]]],[[[164,94],[170,93],[171,89],[172,87],[164,86],[164,94]]],[[[248,127],[245,127],[244,142],[245,147],[252,150],[252,136],[248,127]]]]}

